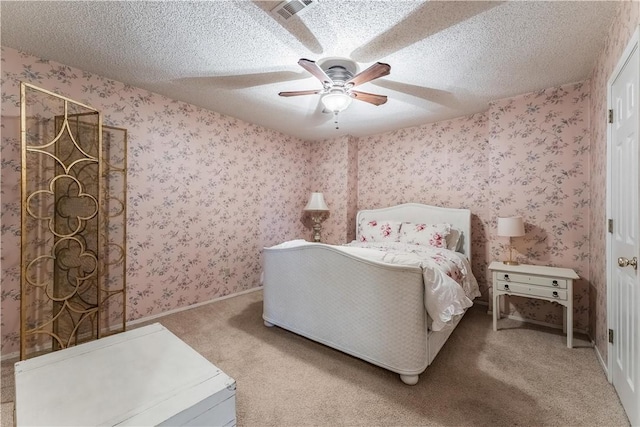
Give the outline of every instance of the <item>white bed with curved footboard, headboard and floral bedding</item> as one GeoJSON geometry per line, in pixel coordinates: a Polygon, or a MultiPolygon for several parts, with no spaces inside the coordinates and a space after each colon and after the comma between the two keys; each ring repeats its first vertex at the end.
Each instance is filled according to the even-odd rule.
{"type": "Polygon", "coordinates": [[[296,240],[264,249],[264,324],[398,373],[405,384],[417,384],[480,295],[470,267],[471,212],[406,203],[359,211],[356,228],[350,246],[296,240]],[[390,230],[379,231],[381,224],[390,230]],[[435,268],[434,260],[417,262],[399,250],[377,247],[386,238],[403,240],[391,246],[420,243],[411,240],[411,227],[439,229],[443,224],[449,229],[439,245],[438,233],[429,228],[435,247],[410,247],[438,251],[438,263],[442,254],[451,257],[446,265],[456,268],[456,275],[463,270],[464,286],[452,280],[451,271],[435,268]],[[433,311],[440,303],[444,314],[433,311]]]}

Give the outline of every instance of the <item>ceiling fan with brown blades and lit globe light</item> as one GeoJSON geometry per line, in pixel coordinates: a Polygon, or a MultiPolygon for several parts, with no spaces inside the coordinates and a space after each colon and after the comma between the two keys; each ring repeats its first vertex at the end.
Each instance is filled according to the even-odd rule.
{"type": "Polygon", "coordinates": [[[385,95],[353,90],[354,87],[388,75],[391,66],[376,62],[361,73],[356,74],[356,64],[342,58],[328,58],[324,61],[312,61],[302,58],[298,64],[322,82],[322,89],[280,92],[280,96],[322,95],[325,109],[337,114],[346,109],[352,99],[382,105],[387,102],[385,95]]]}

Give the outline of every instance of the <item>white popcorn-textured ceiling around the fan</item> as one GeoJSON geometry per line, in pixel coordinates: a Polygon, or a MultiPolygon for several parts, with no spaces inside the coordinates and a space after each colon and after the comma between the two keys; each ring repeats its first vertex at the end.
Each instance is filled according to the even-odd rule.
{"type": "Polygon", "coordinates": [[[319,0],[285,21],[278,1],[2,1],[2,45],[304,139],[371,135],[588,78],[608,1],[319,0]],[[376,61],[358,86],[387,95],[322,112],[300,58],[376,61]]]}

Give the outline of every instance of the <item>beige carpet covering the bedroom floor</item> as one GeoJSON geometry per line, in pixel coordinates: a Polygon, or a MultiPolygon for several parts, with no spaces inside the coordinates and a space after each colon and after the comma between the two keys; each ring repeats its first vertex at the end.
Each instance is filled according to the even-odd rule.
{"type": "MultiPolygon", "coordinates": [[[[416,386],[262,319],[262,292],[159,322],[237,381],[241,426],[623,426],[622,406],[586,341],[486,307],[465,315],[416,386]]],[[[2,365],[2,426],[13,423],[12,364],[2,365]]]]}

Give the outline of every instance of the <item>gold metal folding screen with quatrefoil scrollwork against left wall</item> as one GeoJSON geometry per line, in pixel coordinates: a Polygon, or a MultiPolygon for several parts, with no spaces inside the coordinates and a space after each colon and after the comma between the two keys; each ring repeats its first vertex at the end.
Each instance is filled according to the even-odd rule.
{"type": "Polygon", "coordinates": [[[126,130],[22,83],[21,142],[26,359],[124,330],[126,130]]]}

